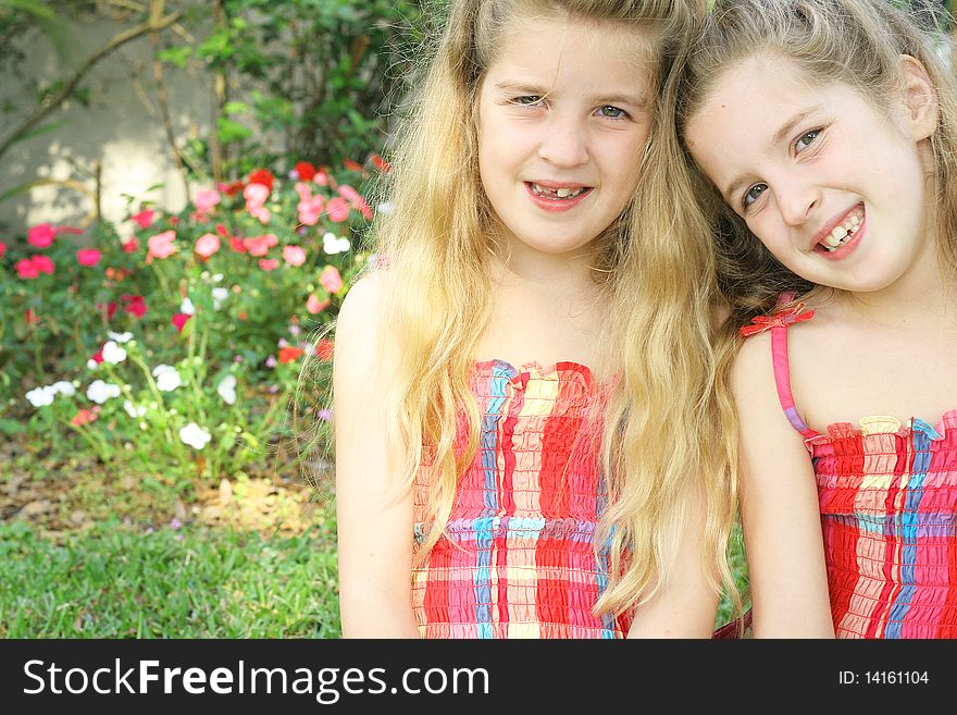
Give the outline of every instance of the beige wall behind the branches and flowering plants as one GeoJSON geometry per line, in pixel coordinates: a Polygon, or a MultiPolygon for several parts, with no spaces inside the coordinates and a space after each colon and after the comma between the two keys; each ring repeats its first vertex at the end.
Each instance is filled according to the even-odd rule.
{"type": "MultiPolygon", "coordinates": [[[[114,34],[129,25],[110,22],[69,26],[70,52],[60,58],[41,34],[26,38],[29,59],[24,71],[46,79],[72,76],[85,59],[114,34]]],[[[169,32],[169,30],[167,30],[169,32]]],[[[177,138],[204,135],[209,127],[210,100],[207,76],[197,67],[178,70],[165,65],[166,91],[177,138]]],[[[10,97],[7,90],[0,96],[10,97]]],[[[158,205],[179,210],[186,192],[172,159],[157,100],[152,71],[152,46],[139,37],[103,59],[87,74],[83,86],[90,89],[90,106],[72,100],[46,120],[64,122],[53,132],[14,145],[0,158],[0,194],[38,178],[78,180],[90,190],[92,172],[102,162],[104,218],[122,221],[126,213],[123,194],[149,197],[158,205]],[[146,194],[153,184],[163,184],[146,194]]],[[[21,100],[23,109],[32,109],[21,100]]],[[[0,137],[8,136],[16,120],[0,118],[0,137]]],[[[80,193],[59,186],[40,186],[0,202],[0,222],[9,237],[41,222],[79,223],[91,210],[91,201],[80,193]]],[[[121,230],[129,231],[128,222],[121,230]]]]}

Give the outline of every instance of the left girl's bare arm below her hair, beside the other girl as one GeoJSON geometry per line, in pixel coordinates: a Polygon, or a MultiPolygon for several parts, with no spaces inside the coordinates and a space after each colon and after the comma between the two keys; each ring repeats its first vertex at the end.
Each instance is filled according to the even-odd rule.
{"type": "Polygon", "coordinates": [[[708,582],[705,509],[696,502],[681,535],[675,563],[664,588],[635,612],[629,638],[710,638],[718,593],[708,582]]]}

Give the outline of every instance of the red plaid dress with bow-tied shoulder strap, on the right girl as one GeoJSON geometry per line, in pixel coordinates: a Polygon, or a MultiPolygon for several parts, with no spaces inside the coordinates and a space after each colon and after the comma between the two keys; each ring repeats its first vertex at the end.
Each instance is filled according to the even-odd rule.
{"type": "Polygon", "coordinates": [[[787,325],[813,315],[803,307],[742,332],[771,330],[778,395],[815,465],[835,633],[957,638],[957,409],[936,426],[879,416],[810,429],[787,368],[787,325]]]}

